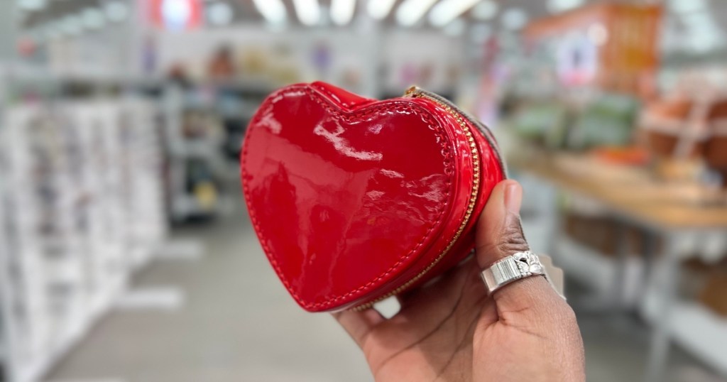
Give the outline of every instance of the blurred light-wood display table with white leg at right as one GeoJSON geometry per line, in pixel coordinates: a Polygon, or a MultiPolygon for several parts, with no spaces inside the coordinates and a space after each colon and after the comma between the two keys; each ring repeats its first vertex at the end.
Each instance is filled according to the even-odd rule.
{"type": "MultiPolygon", "coordinates": [[[[508,158],[507,164],[512,172],[533,175],[560,191],[597,202],[609,215],[662,237],[658,260],[654,259],[659,254],[652,253],[654,245],[646,246],[643,255],[648,268],[646,282],[650,290],[658,291],[646,380],[663,381],[680,262],[695,252],[694,246],[684,245],[684,239],[688,236],[691,240],[686,242],[699,244],[704,236],[727,235],[727,204],[704,202],[705,195],[714,194],[701,186],[660,182],[647,170],[605,164],[585,155],[536,154],[508,158]]],[[[712,353],[709,349],[705,352],[712,353]]],[[[724,362],[721,371],[727,373],[727,357],[723,358],[719,360],[724,362]]]]}

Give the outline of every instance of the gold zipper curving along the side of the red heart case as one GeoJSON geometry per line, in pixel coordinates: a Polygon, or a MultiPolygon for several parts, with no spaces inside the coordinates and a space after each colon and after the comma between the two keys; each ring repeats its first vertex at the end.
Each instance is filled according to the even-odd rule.
{"type": "Polygon", "coordinates": [[[451,250],[452,247],[454,247],[454,244],[457,243],[457,240],[459,239],[459,236],[462,236],[462,232],[465,231],[465,227],[467,227],[467,224],[470,223],[470,218],[472,217],[472,213],[475,210],[475,202],[477,201],[478,192],[480,190],[480,158],[479,153],[477,151],[477,143],[475,143],[475,138],[472,135],[472,132],[470,131],[470,127],[467,126],[467,122],[465,121],[465,117],[462,116],[458,112],[457,108],[454,108],[453,106],[450,106],[449,103],[446,103],[445,101],[439,99],[438,97],[433,97],[432,95],[429,95],[427,92],[423,92],[421,89],[418,89],[417,87],[410,87],[408,90],[406,90],[406,93],[404,94],[405,97],[411,97],[411,98],[426,98],[427,100],[431,100],[432,102],[438,104],[442,108],[444,108],[451,116],[454,117],[454,119],[457,119],[457,124],[459,124],[459,127],[462,127],[462,131],[465,132],[465,136],[467,137],[467,142],[470,143],[470,151],[472,154],[472,162],[473,162],[473,186],[472,186],[472,193],[470,194],[470,204],[467,204],[467,212],[465,212],[465,218],[462,220],[462,224],[459,225],[459,228],[457,228],[457,232],[454,234],[454,237],[451,239],[449,244],[444,248],[444,250],[437,256],[437,258],[434,259],[432,263],[430,263],[427,268],[424,268],[423,271],[419,272],[417,276],[414,276],[413,278],[409,279],[408,282],[401,285],[401,287],[396,288],[395,290],[391,291],[390,293],[387,293],[385,295],[382,295],[381,297],[375,299],[374,301],[370,301],[368,303],[364,303],[359,306],[355,306],[351,308],[352,311],[363,311],[365,309],[371,308],[371,306],[374,306],[374,303],[377,303],[379,301],[382,301],[386,298],[390,298],[393,295],[398,295],[399,293],[403,292],[407,288],[411,287],[412,284],[419,281],[427,272],[431,271],[432,268],[434,268],[435,265],[437,265],[444,256],[451,250]]]}

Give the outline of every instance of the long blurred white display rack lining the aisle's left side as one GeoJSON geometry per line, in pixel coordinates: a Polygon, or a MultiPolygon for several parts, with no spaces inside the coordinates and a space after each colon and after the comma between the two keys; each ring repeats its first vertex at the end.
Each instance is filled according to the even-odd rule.
{"type": "Polygon", "coordinates": [[[34,84],[0,81],[0,362],[19,382],[111,309],[167,231],[158,106],[34,84]]]}

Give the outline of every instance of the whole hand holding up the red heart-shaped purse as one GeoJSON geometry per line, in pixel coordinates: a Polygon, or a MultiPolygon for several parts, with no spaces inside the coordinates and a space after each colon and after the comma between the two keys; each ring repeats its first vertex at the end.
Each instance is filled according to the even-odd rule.
{"type": "Polygon", "coordinates": [[[376,381],[585,381],[583,342],[570,306],[542,276],[488,295],[481,269],[528,250],[522,188],[499,183],[478,220],[476,256],[374,309],[334,317],[364,351],[376,381]]]}

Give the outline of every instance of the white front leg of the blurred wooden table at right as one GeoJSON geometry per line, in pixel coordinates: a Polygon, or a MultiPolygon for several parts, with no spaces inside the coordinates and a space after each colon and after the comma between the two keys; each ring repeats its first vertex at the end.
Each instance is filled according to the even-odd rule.
{"type": "Polygon", "coordinates": [[[648,287],[655,288],[656,317],[651,332],[651,343],[646,365],[646,381],[664,381],[664,371],[669,360],[671,311],[679,284],[679,247],[677,235],[669,234],[662,258],[654,265],[648,287]]]}

